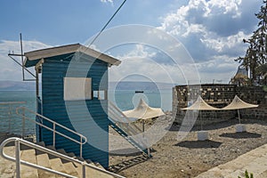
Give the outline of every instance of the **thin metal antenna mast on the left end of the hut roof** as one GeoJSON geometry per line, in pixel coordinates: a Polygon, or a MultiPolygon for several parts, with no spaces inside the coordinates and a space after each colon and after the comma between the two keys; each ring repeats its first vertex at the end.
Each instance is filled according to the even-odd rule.
{"type": "Polygon", "coordinates": [[[24,64],[23,64],[23,57],[24,57],[24,54],[23,54],[23,48],[22,48],[22,35],[20,33],[20,54],[16,54],[12,51],[12,53],[8,53],[8,56],[12,59],[12,61],[16,62],[21,68],[22,68],[22,79],[23,81],[35,81],[36,80],[36,76],[31,72],[29,71],[28,69],[25,68],[24,64]],[[21,57],[21,63],[20,61],[16,60],[15,57],[21,57]],[[35,77],[34,79],[26,79],[25,78],[25,70],[32,76],[32,77],[35,77]]]}

